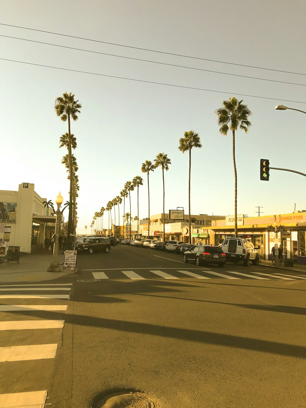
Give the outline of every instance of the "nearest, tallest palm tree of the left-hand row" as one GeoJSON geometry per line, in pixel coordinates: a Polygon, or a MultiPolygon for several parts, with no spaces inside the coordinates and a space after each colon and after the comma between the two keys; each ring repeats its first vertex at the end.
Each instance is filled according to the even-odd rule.
{"type": "MultiPolygon", "coordinates": [[[[62,96],[59,96],[58,98],[55,99],[55,113],[56,115],[60,116],[60,119],[63,122],[66,122],[68,119],[68,135],[69,135],[69,149],[68,149],[68,154],[69,154],[69,169],[71,171],[72,169],[72,161],[71,161],[71,131],[70,131],[70,118],[72,118],[74,121],[78,120],[78,115],[77,113],[80,113],[80,109],[82,108],[82,105],[78,103],[78,100],[74,99],[74,94],[70,93],[63,93],[62,96]]],[[[71,176],[71,174],[70,174],[71,176]]],[[[73,235],[74,232],[74,217],[73,217],[73,208],[72,206],[74,205],[73,202],[73,180],[72,176],[70,177],[70,190],[69,190],[69,216],[68,216],[68,227],[67,227],[67,246],[68,248],[72,248],[72,240],[71,240],[71,235],[73,235]]]]}

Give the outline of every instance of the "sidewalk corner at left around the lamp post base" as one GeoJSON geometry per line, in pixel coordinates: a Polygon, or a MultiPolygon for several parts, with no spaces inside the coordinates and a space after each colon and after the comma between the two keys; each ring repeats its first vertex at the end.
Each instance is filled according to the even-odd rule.
{"type": "MultiPolygon", "coordinates": [[[[32,254],[20,254],[19,264],[16,262],[0,262],[0,284],[37,282],[58,279],[63,276],[74,276],[77,271],[62,269],[60,272],[47,272],[52,260],[51,251],[40,249],[32,254]]],[[[64,255],[58,254],[60,264],[64,263],[64,255]]]]}

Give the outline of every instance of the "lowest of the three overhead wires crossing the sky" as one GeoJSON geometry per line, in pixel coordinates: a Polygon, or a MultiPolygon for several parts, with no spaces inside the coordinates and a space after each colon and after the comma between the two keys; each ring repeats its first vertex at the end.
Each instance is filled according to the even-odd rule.
{"type": "Polygon", "coordinates": [[[306,102],[301,102],[301,101],[293,101],[293,100],[287,100],[287,99],[278,99],[278,98],[267,98],[265,96],[257,96],[257,95],[246,95],[244,93],[237,93],[237,92],[227,92],[227,91],[215,91],[213,89],[203,89],[203,88],[195,88],[192,86],[183,86],[183,85],[175,85],[175,84],[165,84],[163,82],[153,82],[153,81],[145,81],[141,79],[135,79],[135,78],[126,78],[126,77],[119,77],[115,75],[106,75],[106,74],[99,74],[96,72],[88,72],[88,71],[78,71],[76,69],[68,69],[68,68],[60,68],[60,67],[52,67],[50,65],[42,65],[42,64],[34,64],[33,62],[24,62],[24,61],[16,61],[16,60],[9,60],[7,58],[0,58],[0,60],[3,61],[11,61],[11,62],[18,62],[20,64],[28,64],[28,65],[35,65],[37,67],[46,67],[46,68],[53,68],[53,69],[61,69],[63,71],[72,71],[72,72],[79,72],[79,73],[84,73],[84,74],[90,74],[90,75],[99,75],[99,76],[104,76],[108,78],[119,78],[119,79],[125,79],[129,81],[136,81],[136,82],[146,82],[147,84],[157,84],[157,85],[166,85],[166,86],[174,86],[177,88],[185,88],[185,89],[196,89],[198,91],[207,91],[207,92],[216,92],[216,93],[227,93],[231,95],[240,95],[240,96],[249,96],[251,98],[261,98],[261,99],[269,99],[269,100],[278,100],[282,102],[296,102],[296,103],[305,103],[306,102]]]}

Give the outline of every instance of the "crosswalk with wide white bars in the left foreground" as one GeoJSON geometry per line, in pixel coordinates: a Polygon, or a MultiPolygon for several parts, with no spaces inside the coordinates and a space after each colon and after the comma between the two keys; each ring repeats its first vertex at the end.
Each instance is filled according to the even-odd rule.
{"type": "Polygon", "coordinates": [[[51,369],[48,361],[56,358],[65,322],[50,318],[50,312],[64,317],[71,288],[72,283],[0,286],[0,367],[11,374],[9,381],[2,381],[0,408],[44,408],[49,384],[43,383],[39,373],[51,369]],[[28,377],[20,373],[28,370],[30,360],[35,365],[32,362],[34,369],[28,374],[37,378],[36,389],[24,392],[28,377]]]}

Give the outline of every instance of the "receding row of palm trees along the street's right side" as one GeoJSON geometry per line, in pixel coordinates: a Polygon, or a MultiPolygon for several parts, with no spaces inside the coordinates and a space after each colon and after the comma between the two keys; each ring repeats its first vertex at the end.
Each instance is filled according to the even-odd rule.
{"type": "MultiPolygon", "coordinates": [[[[232,131],[233,135],[233,165],[234,165],[234,177],[235,177],[235,236],[237,236],[237,169],[235,161],[235,132],[238,127],[241,130],[244,130],[248,133],[248,128],[251,126],[251,122],[248,120],[248,117],[252,114],[248,109],[246,104],[242,103],[243,100],[238,101],[235,97],[229,98],[229,100],[224,100],[222,102],[222,107],[217,109],[215,113],[218,115],[218,125],[220,126],[220,133],[222,135],[227,135],[228,131],[232,131]]],[[[184,132],[184,137],[180,138],[180,146],[178,149],[185,153],[189,153],[189,177],[188,177],[188,215],[189,215],[189,243],[191,243],[191,210],[190,210],[190,180],[191,180],[191,150],[193,148],[201,148],[202,144],[200,142],[200,137],[198,133],[191,131],[184,132]]],[[[142,163],[141,170],[143,173],[147,174],[148,180],[148,199],[149,199],[149,220],[150,220],[150,188],[149,188],[149,174],[151,171],[154,171],[157,167],[162,167],[162,181],[163,181],[163,214],[165,213],[164,208],[164,199],[165,199],[165,188],[164,188],[164,171],[169,170],[169,165],[171,160],[164,153],[159,153],[154,159],[154,163],[150,160],[146,160],[142,163]]],[[[120,196],[118,195],[113,200],[110,200],[107,203],[106,210],[111,212],[111,209],[114,207],[115,215],[115,205],[118,204],[118,219],[120,220],[119,215],[119,204],[122,203],[123,198],[123,212],[125,211],[125,198],[129,197],[130,201],[130,212],[124,213],[124,221],[129,222],[131,225],[131,191],[137,187],[137,221],[139,220],[139,186],[143,185],[142,177],[136,176],[132,181],[127,181],[124,184],[124,188],[120,191],[120,196]],[[118,200],[120,199],[120,200],[118,200]]],[[[92,225],[94,224],[97,217],[102,216],[102,226],[103,226],[103,213],[105,208],[102,207],[99,213],[95,213],[92,225]]],[[[109,217],[111,219],[111,217],[109,217]]],[[[135,217],[136,219],[136,217],[135,217]]],[[[120,224],[120,222],[119,222],[120,224]]],[[[92,226],[91,225],[91,226],[92,226]]],[[[163,216],[163,226],[164,226],[164,216],[163,216]]],[[[139,235],[139,222],[137,222],[137,236],[139,235]]],[[[148,236],[150,236],[150,222],[148,222],[148,236]]],[[[130,228],[130,238],[131,238],[131,228],[130,228]]],[[[165,240],[165,228],[163,228],[163,239],[165,240]]]]}

